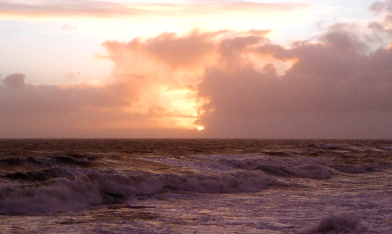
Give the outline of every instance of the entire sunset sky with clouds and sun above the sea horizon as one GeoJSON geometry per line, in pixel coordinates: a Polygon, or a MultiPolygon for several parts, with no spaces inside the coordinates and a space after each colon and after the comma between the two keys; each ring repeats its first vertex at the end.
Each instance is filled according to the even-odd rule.
{"type": "Polygon", "coordinates": [[[392,138],[392,0],[0,0],[0,138],[392,138]]]}

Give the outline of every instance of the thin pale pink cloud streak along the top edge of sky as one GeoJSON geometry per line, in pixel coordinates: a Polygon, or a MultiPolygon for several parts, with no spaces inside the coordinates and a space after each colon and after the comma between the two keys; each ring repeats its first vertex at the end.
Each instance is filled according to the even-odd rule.
{"type": "Polygon", "coordinates": [[[25,17],[123,17],[123,16],[184,16],[221,12],[288,12],[307,7],[299,3],[203,2],[203,3],[139,3],[127,4],[97,0],[40,0],[32,3],[0,0],[0,16],[25,17]]]}

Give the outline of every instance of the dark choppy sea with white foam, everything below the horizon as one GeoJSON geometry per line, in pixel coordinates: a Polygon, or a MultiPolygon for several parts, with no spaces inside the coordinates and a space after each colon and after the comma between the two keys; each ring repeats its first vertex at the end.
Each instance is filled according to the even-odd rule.
{"type": "Polygon", "coordinates": [[[392,141],[0,140],[0,233],[392,234],[392,141]]]}

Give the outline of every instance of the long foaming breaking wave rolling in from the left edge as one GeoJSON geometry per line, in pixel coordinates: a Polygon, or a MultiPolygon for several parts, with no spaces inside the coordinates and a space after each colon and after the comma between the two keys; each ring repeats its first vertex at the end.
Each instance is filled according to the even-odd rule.
{"type": "Polygon", "coordinates": [[[92,172],[33,184],[0,187],[0,213],[42,213],[77,210],[92,204],[134,196],[155,195],[170,187],[191,192],[256,192],[270,180],[261,171],[203,174],[92,172]]]}

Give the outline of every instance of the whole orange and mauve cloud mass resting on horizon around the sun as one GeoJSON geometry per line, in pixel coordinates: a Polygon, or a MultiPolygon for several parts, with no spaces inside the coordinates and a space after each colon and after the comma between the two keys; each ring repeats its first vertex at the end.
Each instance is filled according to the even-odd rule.
{"type": "Polygon", "coordinates": [[[391,6],[371,5],[368,33],[338,23],[289,45],[256,29],[106,41],[99,85],[0,76],[0,137],[391,138],[391,6]]]}

